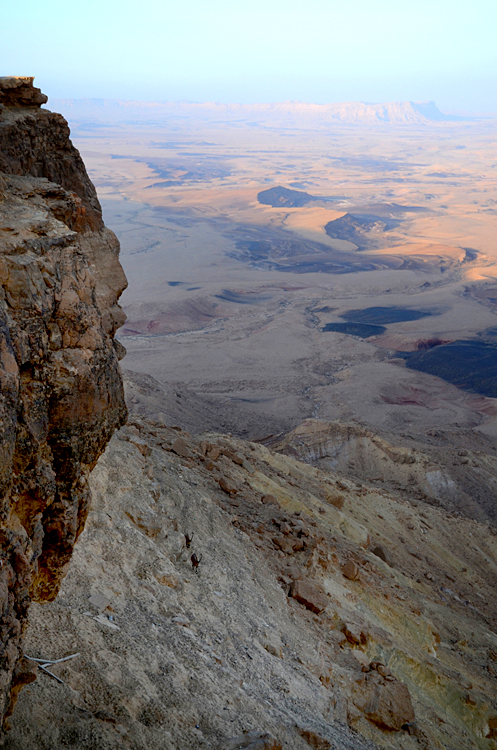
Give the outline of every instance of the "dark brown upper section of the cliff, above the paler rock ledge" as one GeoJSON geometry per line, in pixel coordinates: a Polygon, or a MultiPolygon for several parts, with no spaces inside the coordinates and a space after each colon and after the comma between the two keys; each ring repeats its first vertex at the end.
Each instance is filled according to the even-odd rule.
{"type": "Polygon", "coordinates": [[[71,143],[69,125],[55,112],[40,109],[48,101],[34,78],[0,78],[0,172],[46,177],[75,193],[88,229],[103,227],[95,187],[71,143]]]}

